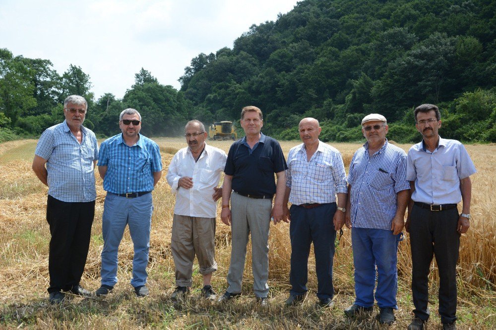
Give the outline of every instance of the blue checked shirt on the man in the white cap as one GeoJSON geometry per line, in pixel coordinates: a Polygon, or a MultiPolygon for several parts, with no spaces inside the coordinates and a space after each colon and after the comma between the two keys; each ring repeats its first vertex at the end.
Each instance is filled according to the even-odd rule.
{"type": "Polygon", "coordinates": [[[406,153],[387,142],[369,157],[365,143],[350,163],[351,224],[355,228],[391,230],[396,215],[396,194],[409,190],[406,153]]]}

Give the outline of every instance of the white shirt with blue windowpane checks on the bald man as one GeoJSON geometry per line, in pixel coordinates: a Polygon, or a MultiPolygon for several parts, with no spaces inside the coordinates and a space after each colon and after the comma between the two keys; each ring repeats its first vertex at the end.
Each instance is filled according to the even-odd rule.
{"type": "Polygon", "coordinates": [[[291,148],[286,186],[291,188],[289,201],[295,205],[335,202],[336,193],[348,192],[341,154],[319,141],[317,151],[307,161],[305,144],[291,148]]]}

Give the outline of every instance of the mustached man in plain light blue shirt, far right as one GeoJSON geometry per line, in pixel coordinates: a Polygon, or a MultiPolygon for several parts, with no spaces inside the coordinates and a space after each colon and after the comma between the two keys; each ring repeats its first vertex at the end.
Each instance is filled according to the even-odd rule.
{"type": "Polygon", "coordinates": [[[455,329],[456,262],[460,234],[470,226],[472,181],[476,172],[465,147],[439,136],[441,115],[432,104],[414,111],[423,140],[408,151],[406,179],[412,200],[406,230],[412,248],[412,296],[415,318],[409,330],[424,329],[429,320],[429,273],[435,256],[439,272],[439,316],[443,329],[455,329]],[[457,204],[463,200],[462,213],[457,204]]]}

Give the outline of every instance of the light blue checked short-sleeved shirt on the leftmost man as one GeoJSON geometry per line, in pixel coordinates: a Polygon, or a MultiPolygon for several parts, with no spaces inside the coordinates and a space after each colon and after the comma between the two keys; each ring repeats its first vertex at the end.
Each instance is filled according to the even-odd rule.
{"type": "Polygon", "coordinates": [[[81,126],[81,144],[65,120],[47,128],[35,155],[47,160],[48,194],[62,202],[91,202],[96,199],[94,161],[98,160],[95,133],[81,126]]]}

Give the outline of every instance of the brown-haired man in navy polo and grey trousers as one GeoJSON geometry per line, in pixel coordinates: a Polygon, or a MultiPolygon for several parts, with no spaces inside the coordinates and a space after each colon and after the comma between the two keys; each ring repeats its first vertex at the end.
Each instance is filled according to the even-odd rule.
{"type": "Polygon", "coordinates": [[[243,108],[241,126],[246,137],[231,145],[224,170],[221,218],[225,224],[231,225],[232,251],[227,275],[229,287],[219,302],[241,293],[248,234],[251,233],[253,291],[260,304],[267,306],[269,224],[271,216],[275,222],[284,217],[284,170],[288,166],[279,143],[260,132],[263,126],[260,109],[253,106],[243,108]],[[272,207],[274,193],[276,197],[272,207]]]}

